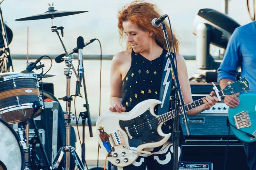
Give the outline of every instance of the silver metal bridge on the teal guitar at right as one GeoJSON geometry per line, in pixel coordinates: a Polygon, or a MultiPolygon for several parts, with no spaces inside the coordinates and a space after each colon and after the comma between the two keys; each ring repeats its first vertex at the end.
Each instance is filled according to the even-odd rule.
{"type": "Polygon", "coordinates": [[[234,118],[237,129],[247,128],[252,125],[251,119],[247,111],[240,112],[237,115],[235,115],[233,118],[234,118]]]}

